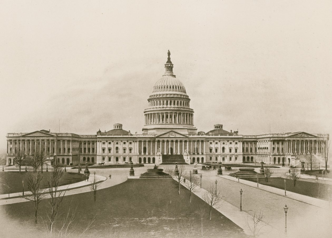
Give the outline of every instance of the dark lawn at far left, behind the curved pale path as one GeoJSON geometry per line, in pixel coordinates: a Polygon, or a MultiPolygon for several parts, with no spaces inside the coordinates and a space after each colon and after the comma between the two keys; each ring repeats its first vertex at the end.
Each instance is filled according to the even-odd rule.
{"type": "MultiPolygon", "coordinates": [[[[2,172],[0,173],[0,194],[22,192],[22,181],[24,181],[24,191],[28,190],[28,179],[32,172],[2,172]],[[9,186],[9,187],[8,187],[9,186]]],[[[42,188],[47,188],[47,179],[51,172],[43,171],[42,188]]],[[[84,181],[86,176],[81,173],[64,173],[60,185],[68,185],[84,181]]]]}

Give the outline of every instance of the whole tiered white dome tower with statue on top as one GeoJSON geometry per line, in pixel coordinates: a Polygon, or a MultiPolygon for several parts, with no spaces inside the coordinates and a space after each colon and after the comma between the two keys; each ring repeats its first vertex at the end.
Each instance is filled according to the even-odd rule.
{"type": "Polygon", "coordinates": [[[190,108],[190,98],[186,88],[173,74],[173,64],[168,51],[166,72],[153,86],[144,110],[143,133],[162,134],[176,130],[182,134],[197,134],[194,127],[194,110],[190,108]]]}

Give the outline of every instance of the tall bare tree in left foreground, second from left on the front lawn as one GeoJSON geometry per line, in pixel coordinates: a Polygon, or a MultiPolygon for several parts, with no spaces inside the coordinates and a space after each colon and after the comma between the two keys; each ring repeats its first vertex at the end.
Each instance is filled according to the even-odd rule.
{"type": "Polygon", "coordinates": [[[49,231],[52,234],[53,224],[55,222],[56,215],[58,213],[59,206],[66,192],[59,192],[59,184],[64,172],[61,168],[56,168],[52,171],[50,179],[47,180],[48,193],[50,195],[49,205],[51,206],[51,212],[48,214],[49,219],[49,231]]]}

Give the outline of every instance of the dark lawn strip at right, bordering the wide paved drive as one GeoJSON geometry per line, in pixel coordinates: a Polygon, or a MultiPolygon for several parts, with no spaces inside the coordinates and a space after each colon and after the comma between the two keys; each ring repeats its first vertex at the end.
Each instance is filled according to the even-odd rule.
{"type": "MultiPolygon", "coordinates": [[[[257,178],[243,178],[245,180],[253,181],[257,183],[257,178]]],[[[259,178],[259,184],[268,185],[278,189],[285,189],[284,178],[269,178],[269,182],[265,182],[265,178],[259,178]]],[[[314,198],[322,198],[328,200],[328,191],[327,189],[331,185],[316,183],[316,182],[307,182],[297,180],[294,187],[294,182],[291,179],[286,179],[286,191],[293,193],[298,193],[314,198]]]]}

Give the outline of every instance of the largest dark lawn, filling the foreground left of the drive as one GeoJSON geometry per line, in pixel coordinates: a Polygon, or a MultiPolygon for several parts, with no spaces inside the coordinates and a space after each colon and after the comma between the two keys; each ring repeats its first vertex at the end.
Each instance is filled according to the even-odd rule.
{"type": "MultiPolygon", "coordinates": [[[[42,201],[40,205],[42,218],[39,220],[46,221],[48,203],[42,201]]],[[[39,224],[37,228],[41,231],[35,236],[31,202],[8,204],[1,208],[7,219],[18,220],[25,227],[27,237],[44,235],[41,231],[46,229],[39,224]]],[[[201,208],[204,237],[247,237],[240,227],[215,209],[210,221],[207,203],[195,195],[190,203],[189,191],[184,187],[181,187],[179,196],[173,179],[129,179],[99,190],[96,202],[92,192],[66,196],[60,206],[58,221],[63,219],[69,208],[70,212],[76,210],[77,215],[73,237],[79,236],[93,219],[93,227],[82,237],[202,237],[201,208]],[[188,232],[188,228],[192,228],[192,232],[188,232]]]]}

